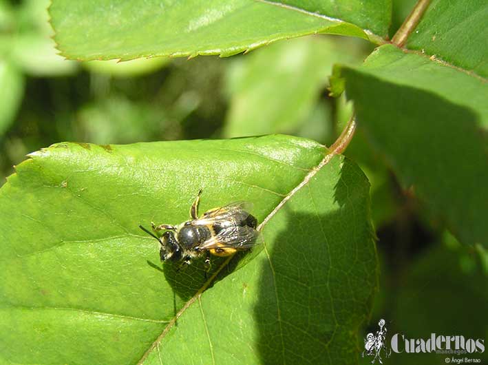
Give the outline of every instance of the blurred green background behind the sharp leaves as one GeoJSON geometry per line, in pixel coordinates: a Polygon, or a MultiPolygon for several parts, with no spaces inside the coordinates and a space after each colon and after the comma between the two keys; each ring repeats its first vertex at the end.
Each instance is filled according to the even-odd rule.
{"type": "MultiPolygon", "coordinates": [[[[390,34],[414,3],[395,1],[390,34]]],[[[328,96],[332,64],[359,64],[372,50],[357,39],[308,36],[229,59],[66,61],[50,38],[48,4],[0,0],[1,185],[26,154],[65,140],[113,144],[286,133],[330,145],[352,112],[344,97],[328,96]]],[[[376,331],[385,318],[390,334],[488,337],[485,251],[456,242],[413,189],[399,186],[361,129],[346,155],[372,184],[379,238],[380,290],[365,331],[376,331]]],[[[394,356],[395,364],[441,364],[445,358],[394,356]]]]}

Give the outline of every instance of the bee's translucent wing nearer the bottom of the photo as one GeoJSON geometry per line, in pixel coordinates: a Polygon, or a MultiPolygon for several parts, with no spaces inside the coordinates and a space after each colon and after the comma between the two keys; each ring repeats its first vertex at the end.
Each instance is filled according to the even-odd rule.
{"type": "Polygon", "coordinates": [[[199,249],[209,250],[215,248],[231,247],[237,250],[249,249],[260,242],[258,231],[248,226],[232,226],[222,229],[217,235],[209,238],[200,246],[199,249]]]}

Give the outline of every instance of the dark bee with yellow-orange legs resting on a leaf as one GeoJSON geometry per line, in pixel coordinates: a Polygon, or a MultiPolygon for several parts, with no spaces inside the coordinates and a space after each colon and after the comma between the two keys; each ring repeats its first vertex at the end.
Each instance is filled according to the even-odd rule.
{"type": "Polygon", "coordinates": [[[198,205],[201,194],[200,189],[191,205],[191,220],[176,226],[155,225],[151,222],[155,233],[165,231],[161,237],[139,226],[160,242],[162,262],[191,264],[193,259],[206,255],[205,267],[208,271],[210,255],[229,256],[237,251],[250,250],[257,244],[257,219],[248,212],[248,203],[233,202],[224,207],[210,209],[199,217],[198,205]]]}

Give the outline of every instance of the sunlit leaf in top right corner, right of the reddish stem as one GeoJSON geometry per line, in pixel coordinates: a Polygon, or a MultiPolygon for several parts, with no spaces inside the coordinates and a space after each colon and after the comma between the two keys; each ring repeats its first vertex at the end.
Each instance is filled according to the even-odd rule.
{"type": "Polygon", "coordinates": [[[487,18],[487,1],[434,0],[407,48],[488,77],[487,18]]]}

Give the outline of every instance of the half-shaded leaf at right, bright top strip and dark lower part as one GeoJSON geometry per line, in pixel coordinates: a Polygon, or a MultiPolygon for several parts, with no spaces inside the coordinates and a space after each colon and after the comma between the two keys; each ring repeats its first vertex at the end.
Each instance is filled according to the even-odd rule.
{"type": "Polygon", "coordinates": [[[405,187],[465,243],[488,244],[488,88],[479,76],[384,45],[344,67],[359,125],[405,187]]]}

